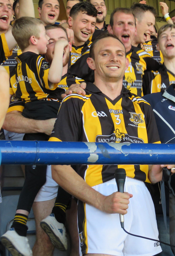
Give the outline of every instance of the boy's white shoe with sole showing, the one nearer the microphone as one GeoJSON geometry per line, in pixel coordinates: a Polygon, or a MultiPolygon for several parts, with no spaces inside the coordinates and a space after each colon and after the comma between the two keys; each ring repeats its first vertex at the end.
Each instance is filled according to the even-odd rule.
{"type": "Polygon", "coordinates": [[[54,213],[51,213],[40,222],[42,229],[50,238],[52,244],[60,251],[67,250],[66,229],[63,223],[55,219],[54,213]]]}

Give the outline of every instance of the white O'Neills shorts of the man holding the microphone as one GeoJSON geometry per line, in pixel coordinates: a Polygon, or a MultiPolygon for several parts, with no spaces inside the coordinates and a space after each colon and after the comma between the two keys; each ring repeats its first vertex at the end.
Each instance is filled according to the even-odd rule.
{"type": "MultiPolygon", "coordinates": [[[[93,188],[106,196],[117,191],[115,179],[93,188]]],[[[124,228],[132,234],[158,240],[154,204],[144,182],[126,177],[124,191],[133,194],[128,213],[124,215],[124,228]]],[[[124,232],[119,214],[104,213],[81,201],[78,202],[78,226],[82,255],[152,256],[162,251],[159,243],[124,232]]]]}

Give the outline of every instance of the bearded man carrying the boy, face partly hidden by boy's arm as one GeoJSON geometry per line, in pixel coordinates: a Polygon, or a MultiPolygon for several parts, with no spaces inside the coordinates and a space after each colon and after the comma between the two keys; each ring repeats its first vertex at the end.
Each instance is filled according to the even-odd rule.
{"type": "MultiPolygon", "coordinates": [[[[47,45],[47,53],[45,54],[46,60],[51,63],[54,55],[54,46],[55,43],[61,39],[67,38],[66,30],[58,25],[48,25],[46,26],[46,34],[50,37],[49,44],[47,45]]],[[[71,44],[69,43],[69,47],[64,51],[63,56],[63,73],[60,83],[58,84],[59,95],[58,98],[61,101],[61,94],[65,92],[69,85],[73,83],[79,83],[79,81],[67,74],[68,68],[68,59],[69,52],[71,50],[71,44]]],[[[8,109],[8,113],[6,115],[6,119],[4,122],[4,128],[6,130],[18,133],[45,133],[49,135],[54,125],[55,118],[48,120],[34,120],[28,119],[22,116],[22,110],[24,108],[24,103],[21,99],[16,101],[15,96],[12,96],[10,101],[10,106],[8,109]]],[[[55,116],[56,117],[56,116],[55,116]]],[[[49,170],[47,171],[47,178],[49,176],[49,170]]],[[[52,211],[52,207],[54,206],[55,197],[57,195],[57,186],[53,187],[53,190],[50,188],[54,186],[52,184],[52,180],[48,180],[48,184],[46,183],[39,194],[35,198],[33,204],[33,211],[35,214],[36,220],[36,243],[33,248],[33,255],[42,256],[42,255],[53,255],[54,247],[51,244],[48,236],[43,232],[40,227],[40,221],[45,218],[52,211]]],[[[64,234],[65,236],[65,234],[64,234]]],[[[67,240],[66,240],[67,242],[67,240]]],[[[65,245],[67,246],[67,244],[65,245]]],[[[66,248],[65,248],[66,249],[66,248]]],[[[72,254],[73,255],[73,254],[72,254]]],[[[77,254],[74,254],[77,255],[77,254]]]]}

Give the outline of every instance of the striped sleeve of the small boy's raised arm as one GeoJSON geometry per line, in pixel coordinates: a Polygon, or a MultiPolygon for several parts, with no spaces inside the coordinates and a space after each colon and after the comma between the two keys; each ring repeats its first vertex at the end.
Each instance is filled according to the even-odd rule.
{"type": "Polygon", "coordinates": [[[50,65],[40,55],[37,57],[37,60],[36,60],[36,68],[37,68],[37,74],[39,76],[42,87],[48,90],[55,90],[57,88],[57,84],[52,84],[52,87],[51,87],[48,81],[48,73],[49,73],[50,65]]]}

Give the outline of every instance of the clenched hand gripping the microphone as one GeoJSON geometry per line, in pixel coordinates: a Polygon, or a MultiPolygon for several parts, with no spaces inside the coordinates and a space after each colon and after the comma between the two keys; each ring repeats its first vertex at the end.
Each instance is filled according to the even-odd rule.
{"type": "Polygon", "coordinates": [[[128,192],[112,193],[104,198],[100,210],[106,213],[119,213],[124,215],[127,213],[129,199],[131,197],[133,197],[133,195],[128,192]]]}

